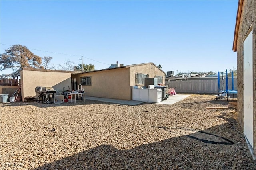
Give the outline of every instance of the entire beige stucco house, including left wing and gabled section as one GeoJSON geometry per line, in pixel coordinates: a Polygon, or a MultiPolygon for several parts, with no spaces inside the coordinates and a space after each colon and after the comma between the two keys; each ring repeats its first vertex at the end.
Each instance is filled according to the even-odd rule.
{"type": "Polygon", "coordinates": [[[144,86],[144,78],[158,78],[159,84],[164,83],[165,72],[150,62],[127,66],[120,64],[114,68],[83,73],[20,68],[12,76],[20,78],[22,98],[36,96],[37,86],[52,87],[60,92],[77,90],[78,84],[82,84],[86,96],[132,100],[132,86],[144,86]]]}

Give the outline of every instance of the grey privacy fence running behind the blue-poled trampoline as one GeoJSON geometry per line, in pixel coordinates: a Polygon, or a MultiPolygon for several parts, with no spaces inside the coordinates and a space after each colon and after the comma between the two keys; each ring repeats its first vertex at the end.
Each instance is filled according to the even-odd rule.
{"type": "MultiPolygon", "coordinates": [[[[237,79],[234,78],[234,90],[237,90],[237,79]]],[[[180,93],[218,93],[218,79],[207,80],[178,80],[166,82],[168,88],[176,87],[175,91],[180,93]]],[[[220,88],[226,90],[226,82],[220,82],[220,88]]],[[[232,89],[232,80],[228,79],[228,89],[232,89]]]]}

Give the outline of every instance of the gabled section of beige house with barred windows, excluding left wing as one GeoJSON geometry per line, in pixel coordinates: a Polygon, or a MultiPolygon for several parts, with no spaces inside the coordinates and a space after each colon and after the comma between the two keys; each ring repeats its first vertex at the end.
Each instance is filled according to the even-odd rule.
{"type": "Polygon", "coordinates": [[[132,86],[144,86],[144,78],[164,83],[165,72],[156,64],[142,63],[73,74],[86,96],[132,100],[132,86]]]}

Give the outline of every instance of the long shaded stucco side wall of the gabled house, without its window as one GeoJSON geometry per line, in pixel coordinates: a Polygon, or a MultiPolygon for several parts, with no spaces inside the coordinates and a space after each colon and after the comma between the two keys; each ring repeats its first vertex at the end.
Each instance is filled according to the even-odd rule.
{"type": "Polygon", "coordinates": [[[76,75],[77,84],[81,77],[92,76],[92,85],[82,86],[86,96],[131,100],[129,68],[118,68],[76,75]]]}

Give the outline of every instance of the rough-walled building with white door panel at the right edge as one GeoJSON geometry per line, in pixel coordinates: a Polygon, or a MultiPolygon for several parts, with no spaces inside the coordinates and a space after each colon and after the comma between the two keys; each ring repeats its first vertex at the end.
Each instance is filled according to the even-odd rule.
{"type": "Polygon", "coordinates": [[[256,1],[239,0],[233,51],[237,51],[238,117],[256,158],[256,1]]]}

